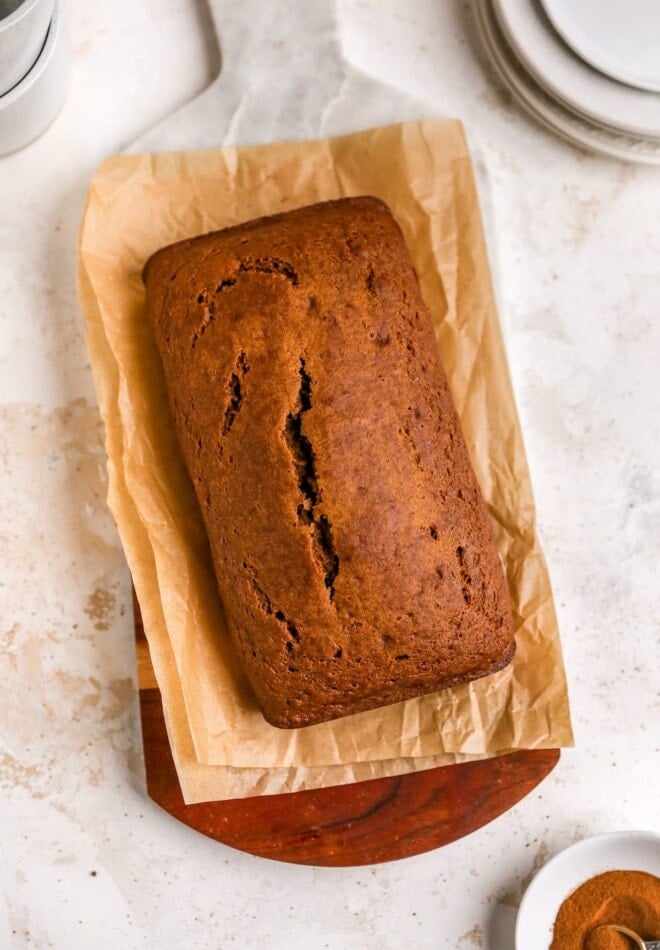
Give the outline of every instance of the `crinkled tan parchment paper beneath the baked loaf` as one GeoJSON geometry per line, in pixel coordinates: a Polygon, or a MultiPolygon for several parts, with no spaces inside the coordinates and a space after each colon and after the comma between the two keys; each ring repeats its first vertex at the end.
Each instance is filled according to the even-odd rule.
{"type": "Polygon", "coordinates": [[[85,211],[80,295],[107,432],[109,504],[187,801],[572,744],[552,592],[460,123],[108,159],[92,180],[85,211]],[[261,716],[229,641],[144,320],[140,274],[146,258],[172,241],[360,194],[390,205],[411,250],[493,518],[517,653],[506,670],[475,683],[283,731],[261,716]]]}

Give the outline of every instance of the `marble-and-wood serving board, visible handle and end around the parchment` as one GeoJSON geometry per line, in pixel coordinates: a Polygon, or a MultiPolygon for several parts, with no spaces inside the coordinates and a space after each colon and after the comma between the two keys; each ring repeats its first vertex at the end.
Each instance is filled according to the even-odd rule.
{"type": "MultiPolygon", "coordinates": [[[[318,138],[434,113],[346,60],[336,0],[306,0],[295,22],[288,0],[208,3],[221,75],[131,151],[318,138]]],[[[398,778],[185,805],[139,611],[136,634],[149,795],[191,828],[251,854],[335,866],[419,854],[503,814],[559,759],[553,749],[521,751],[398,778]]]]}

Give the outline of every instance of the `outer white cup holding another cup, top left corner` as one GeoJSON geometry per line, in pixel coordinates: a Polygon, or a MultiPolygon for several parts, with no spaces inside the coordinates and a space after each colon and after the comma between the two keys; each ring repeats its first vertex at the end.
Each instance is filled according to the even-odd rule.
{"type": "Polygon", "coordinates": [[[69,87],[70,52],[59,3],[39,58],[18,85],[0,96],[0,155],[15,152],[44,132],[69,87]]]}

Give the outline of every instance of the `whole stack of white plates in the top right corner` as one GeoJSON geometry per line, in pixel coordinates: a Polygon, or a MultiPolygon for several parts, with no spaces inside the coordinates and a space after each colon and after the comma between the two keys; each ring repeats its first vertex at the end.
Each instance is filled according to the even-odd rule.
{"type": "Polygon", "coordinates": [[[563,138],[660,164],[660,0],[474,0],[496,72],[563,138]]]}

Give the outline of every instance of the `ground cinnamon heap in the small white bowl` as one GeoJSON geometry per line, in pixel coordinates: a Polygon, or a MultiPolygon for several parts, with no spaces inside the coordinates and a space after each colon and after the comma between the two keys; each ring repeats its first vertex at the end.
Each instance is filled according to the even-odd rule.
{"type": "Polygon", "coordinates": [[[629,950],[627,937],[594,933],[603,924],[660,939],[660,878],[645,871],[608,871],[586,881],[559,908],[550,950],[629,950]]]}

